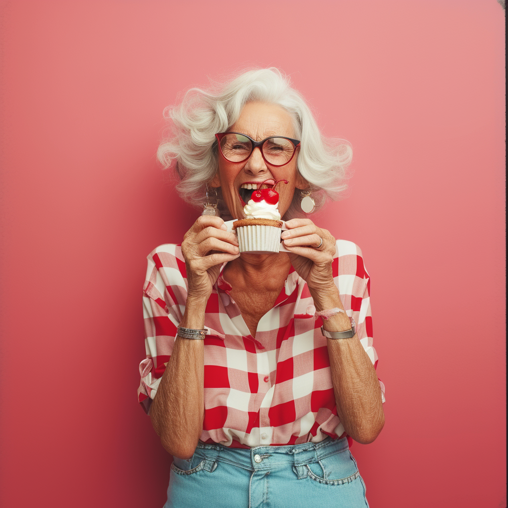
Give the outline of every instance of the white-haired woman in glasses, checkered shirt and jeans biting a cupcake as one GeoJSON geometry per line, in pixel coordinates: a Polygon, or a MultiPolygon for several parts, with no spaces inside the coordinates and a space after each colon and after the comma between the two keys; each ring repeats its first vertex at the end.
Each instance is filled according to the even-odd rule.
{"type": "Polygon", "coordinates": [[[351,149],[276,69],[167,111],[158,157],[205,210],[150,253],[144,285],[139,400],[174,457],[166,508],[368,506],[349,446],[384,425],[369,275],[305,213],[345,188],[351,149]],[[240,253],[227,221],[279,180],[281,251],[240,253]]]}

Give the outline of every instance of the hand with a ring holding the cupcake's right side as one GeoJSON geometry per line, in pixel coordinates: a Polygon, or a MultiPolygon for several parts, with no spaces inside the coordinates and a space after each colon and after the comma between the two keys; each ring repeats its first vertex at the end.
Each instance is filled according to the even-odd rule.
{"type": "Polygon", "coordinates": [[[298,275],[307,282],[309,290],[331,288],[335,238],[307,218],[291,219],[285,225],[288,230],[282,232],[281,238],[291,251],[288,255],[298,275]]]}

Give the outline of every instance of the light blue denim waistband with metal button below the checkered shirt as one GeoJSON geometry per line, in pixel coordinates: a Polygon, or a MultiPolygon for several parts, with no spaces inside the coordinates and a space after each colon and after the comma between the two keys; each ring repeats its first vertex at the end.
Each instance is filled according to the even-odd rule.
{"type": "Polygon", "coordinates": [[[330,455],[349,448],[347,438],[327,437],[319,443],[301,443],[287,446],[259,446],[250,450],[229,448],[222,444],[199,443],[195,455],[211,462],[228,462],[244,469],[262,470],[278,465],[292,464],[298,468],[303,464],[319,462],[330,455]]]}

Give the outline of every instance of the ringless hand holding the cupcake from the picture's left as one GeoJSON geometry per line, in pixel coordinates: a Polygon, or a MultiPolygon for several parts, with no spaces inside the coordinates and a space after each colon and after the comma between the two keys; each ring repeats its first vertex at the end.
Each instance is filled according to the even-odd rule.
{"type": "Polygon", "coordinates": [[[238,258],[240,252],[236,235],[227,231],[223,219],[201,215],[183,237],[182,255],[187,270],[187,299],[206,301],[220,265],[238,258]]]}

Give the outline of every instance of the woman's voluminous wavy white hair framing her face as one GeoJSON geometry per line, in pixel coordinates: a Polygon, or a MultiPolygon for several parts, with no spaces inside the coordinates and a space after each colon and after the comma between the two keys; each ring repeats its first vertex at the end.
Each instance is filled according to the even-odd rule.
{"type": "MultiPolygon", "coordinates": [[[[164,110],[169,132],[158,147],[157,159],[165,169],[174,166],[182,199],[194,206],[203,205],[206,184],[218,168],[215,134],[228,131],[247,102],[258,101],[281,106],[293,117],[295,138],[301,141],[298,171],[309,184],[315,210],[327,198],[338,199],[347,188],[345,170],[352,160],[351,146],[344,140],[322,136],[301,94],[291,87],[288,76],[273,67],[242,72],[208,90],[190,88],[180,104],[164,110]]],[[[304,215],[300,200],[300,193],[295,193],[284,215],[286,220],[304,215]]],[[[221,203],[221,212],[227,213],[221,201],[219,209],[221,203]]]]}

